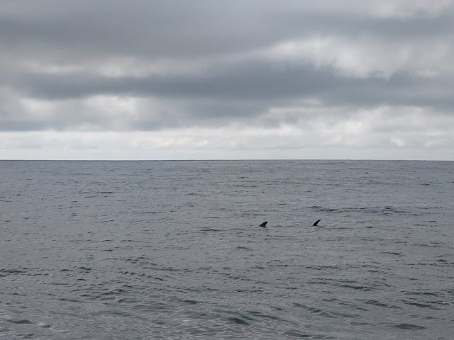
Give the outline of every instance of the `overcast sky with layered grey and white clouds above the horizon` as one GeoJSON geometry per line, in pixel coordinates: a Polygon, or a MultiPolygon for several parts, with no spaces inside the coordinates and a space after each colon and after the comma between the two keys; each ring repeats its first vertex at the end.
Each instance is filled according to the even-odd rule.
{"type": "Polygon", "coordinates": [[[0,0],[0,159],[454,160],[454,1],[0,0]]]}

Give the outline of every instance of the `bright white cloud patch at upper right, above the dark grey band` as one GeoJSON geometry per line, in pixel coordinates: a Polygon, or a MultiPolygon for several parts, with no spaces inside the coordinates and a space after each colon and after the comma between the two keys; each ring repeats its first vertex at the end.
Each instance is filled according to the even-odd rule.
{"type": "Polygon", "coordinates": [[[260,52],[262,57],[289,62],[310,62],[333,67],[353,77],[389,77],[409,70],[422,77],[453,71],[448,42],[377,42],[371,37],[345,39],[312,37],[281,42],[260,52]]]}

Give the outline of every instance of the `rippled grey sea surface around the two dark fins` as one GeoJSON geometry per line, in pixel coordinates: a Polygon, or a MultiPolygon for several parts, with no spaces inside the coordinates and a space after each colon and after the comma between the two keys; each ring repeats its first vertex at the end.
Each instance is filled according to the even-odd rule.
{"type": "Polygon", "coordinates": [[[454,162],[1,161],[0,184],[0,339],[454,339],[454,162]]]}

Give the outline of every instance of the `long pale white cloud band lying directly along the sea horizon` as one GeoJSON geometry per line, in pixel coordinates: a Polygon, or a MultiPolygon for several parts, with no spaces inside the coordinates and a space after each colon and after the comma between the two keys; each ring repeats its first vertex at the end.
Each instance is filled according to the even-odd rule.
{"type": "Polygon", "coordinates": [[[355,157],[376,159],[382,154],[371,150],[380,149],[412,159],[416,148],[426,158],[449,159],[454,151],[454,118],[426,115],[415,108],[376,108],[353,115],[347,111],[333,110],[327,119],[306,108],[275,108],[272,114],[287,112],[296,120],[275,128],[1,132],[0,152],[4,158],[26,159],[226,159],[265,154],[336,159],[345,158],[350,149],[356,150],[355,157]]]}

